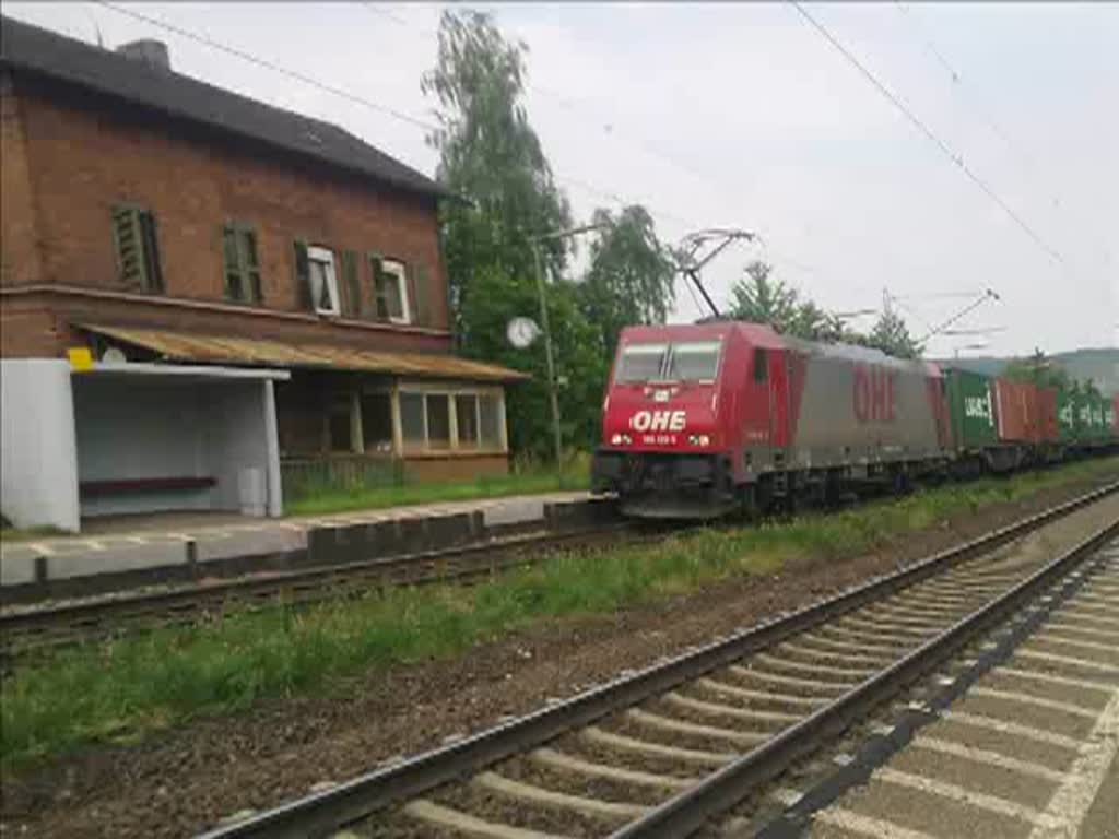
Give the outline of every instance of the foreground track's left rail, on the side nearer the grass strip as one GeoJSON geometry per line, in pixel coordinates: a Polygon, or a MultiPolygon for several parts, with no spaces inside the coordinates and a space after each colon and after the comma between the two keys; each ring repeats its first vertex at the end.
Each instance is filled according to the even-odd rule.
{"type": "Polygon", "coordinates": [[[751,652],[770,648],[786,638],[935,576],[953,565],[987,554],[1116,491],[1119,491],[1119,482],[933,554],[893,574],[876,577],[791,614],[774,618],[698,650],[592,688],[565,701],[451,745],[359,775],[329,790],[289,801],[234,824],[201,833],[200,839],[328,836],[402,800],[459,780],[483,766],[546,743],[572,728],[593,723],[620,708],[641,703],[751,652]]]}

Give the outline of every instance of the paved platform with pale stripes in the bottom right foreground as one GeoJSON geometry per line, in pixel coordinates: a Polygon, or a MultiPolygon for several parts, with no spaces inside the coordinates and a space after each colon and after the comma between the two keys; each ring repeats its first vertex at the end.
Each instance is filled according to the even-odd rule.
{"type": "Polygon", "coordinates": [[[1113,781],[1107,790],[1119,748],[1117,643],[1112,540],[909,691],[908,704],[815,761],[815,772],[786,773],[770,812],[743,810],[711,832],[1109,839],[1117,822],[1106,800],[1119,793],[1113,781]]]}

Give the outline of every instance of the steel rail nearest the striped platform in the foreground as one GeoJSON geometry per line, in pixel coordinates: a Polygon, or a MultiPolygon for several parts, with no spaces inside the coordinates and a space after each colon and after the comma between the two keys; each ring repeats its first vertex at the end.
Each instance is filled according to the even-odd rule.
{"type": "Polygon", "coordinates": [[[1119,534],[1119,520],[1104,526],[986,606],[952,624],[811,716],[614,831],[610,839],[678,839],[690,836],[713,817],[746,799],[794,761],[815,751],[821,741],[843,733],[856,719],[864,717],[911,682],[935,670],[970,640],[1002,623],[1014,609],[1033,600],[1054,581],[1089,558],[1116,534],[1119,534]]]}

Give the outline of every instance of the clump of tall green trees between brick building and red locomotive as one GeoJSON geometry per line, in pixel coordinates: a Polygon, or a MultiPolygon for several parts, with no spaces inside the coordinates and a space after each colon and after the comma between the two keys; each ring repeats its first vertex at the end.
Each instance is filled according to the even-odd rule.
{"type": "MultiPolygon", "coordinates": [[[[518,453],[551,454],[551,408],[543,340],[515,349],[506,327],[539,319],[533,237],[568,228],[556,186],[524,104],[527,49],[509,43],[490,16],[452,9],[442,16],[435,67],[422,82],[438,103],[439,181],[464,200],[440,209],[443,251],[460,350],[527,373],[507,390],[509,442],[518,453]]],[[[608,224],[591,249],[584,282],[567,279],[567,243],[539,244],[555,349],[564,442],[593,444],[611,348],[627,323],[662,322],[671,308],[667,249],[641,207],[608,224]]]]}

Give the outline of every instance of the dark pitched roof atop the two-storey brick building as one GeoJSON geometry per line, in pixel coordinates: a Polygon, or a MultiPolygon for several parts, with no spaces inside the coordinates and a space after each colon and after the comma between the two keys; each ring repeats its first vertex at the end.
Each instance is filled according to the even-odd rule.
{"type": "Polygon", "coordinates": [[[399,189],[450,196],[431,178],[332,123],[273,107],[9,17],[0,21],[0,66],[119,97],[168,116],[367,175],[399,189]]]}

